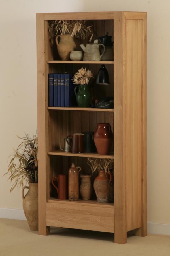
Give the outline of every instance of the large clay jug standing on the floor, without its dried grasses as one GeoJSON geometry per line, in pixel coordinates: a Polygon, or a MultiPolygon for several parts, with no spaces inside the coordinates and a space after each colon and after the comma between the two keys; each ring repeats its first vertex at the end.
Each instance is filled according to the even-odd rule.
{"type": "Polygon", "coordinates": [[[22,188],[22,205],[30,230],[38,230],[38,183],[22,188]],[[24,189],[29,189],[24,197],[24,189]]]}

